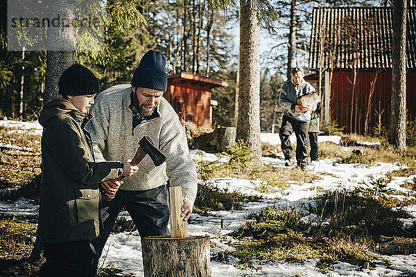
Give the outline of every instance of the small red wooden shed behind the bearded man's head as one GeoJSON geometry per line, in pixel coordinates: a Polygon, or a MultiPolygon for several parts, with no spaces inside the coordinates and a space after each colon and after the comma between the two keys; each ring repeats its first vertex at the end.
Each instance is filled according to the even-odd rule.
{"type": "Polygon", "coordinates": [[[181,121],[191,121],[198,127],[211,127],[212,106],[216,105],[216,101],[211,101],[211,89],[216,87],[228,87],[228,83],[182,72],[168,76],[168,89],[163,96],[181,121]]]}

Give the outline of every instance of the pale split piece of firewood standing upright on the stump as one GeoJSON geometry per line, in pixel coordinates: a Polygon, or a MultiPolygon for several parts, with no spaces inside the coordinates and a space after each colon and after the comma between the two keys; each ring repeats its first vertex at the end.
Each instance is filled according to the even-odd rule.
{"type": "Polygon", "coordinates": [[[180,217],[181,208],[184,204],[181,186],[171,186],[169,188],[169,204],[171,206],[171,237],[188,238],[188,224],[180,217]]]}

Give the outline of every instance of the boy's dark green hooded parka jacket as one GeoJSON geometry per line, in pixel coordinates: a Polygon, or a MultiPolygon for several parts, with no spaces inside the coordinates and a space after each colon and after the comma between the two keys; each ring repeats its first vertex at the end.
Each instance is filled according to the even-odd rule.
{"type": "Polygon", "coordinates": [[[54,100],[40,115],[44,164],[40,235],[46,243],[92,240],[100,233],[98,183],[120,177],[123,163],[94,162],[84,127],[91,116],[69,100],[54,100]]]}

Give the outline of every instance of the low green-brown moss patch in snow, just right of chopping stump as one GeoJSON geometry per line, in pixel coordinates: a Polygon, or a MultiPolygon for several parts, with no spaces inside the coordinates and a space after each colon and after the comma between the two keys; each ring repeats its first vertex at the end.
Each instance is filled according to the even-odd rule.
{"type": "Polygon", "coordinates": [[[363,234],[367,230],[363,226],[324,226],[303,223],[295,211],[268,207],[248,216],[248,222],[232,233],[239,239],[233,255],[243,267],[250,267],[250,260],[302,262],[311,258],[319,259],[317,267],[322,271],[331,270],[337,260],[361,267],[374,265],[376,260],[388,263],[369,251],[374,243],[363,234]]]}

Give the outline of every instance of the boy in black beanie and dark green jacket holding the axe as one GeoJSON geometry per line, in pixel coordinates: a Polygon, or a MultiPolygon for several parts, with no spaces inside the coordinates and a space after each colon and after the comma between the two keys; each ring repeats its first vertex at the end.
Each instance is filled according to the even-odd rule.
{"type": "Polygon", "coordinates": [[[128,161],[96,163],[85,125],[99,92],[98,80],[85,66],[74,64],[62,73],[59,92],[64,99],[44,106],[44,164],[39,228],[46,262],[40,276],[94,276],[90,241],[100,234],[98,184],[137,170],[128,161]]]}

